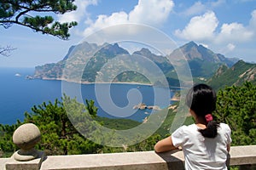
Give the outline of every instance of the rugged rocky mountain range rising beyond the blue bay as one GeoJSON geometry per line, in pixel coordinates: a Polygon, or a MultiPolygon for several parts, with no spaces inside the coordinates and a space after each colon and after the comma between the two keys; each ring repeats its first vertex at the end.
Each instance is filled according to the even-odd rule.
{"type": "MultiPolygon", "coordinates": [[[[255,64],[247,64],[236,58],[226,58],[223,54],[215,54],[212,50],[197,45],[195,42],[188,42],[167,56],[153,54],[148,48],[141,48],[130,54],[125,48],[119,47],[118,43],[97,45],[82,42],[69,48],[67,55],[61,61],[36,66],[33,77],[84,83],[100,80],[102,82],[143,82],[161,85],[157,73],[149,76],[143,75],[144,72],[152,72],[154,65],[157,65],[157,68],[164,73],[169,86],[177,87],[180,82],[175,68],[183,68],[183,63],[171,64],[168,59],[179,59],[179,55],[183,55],[189,64],[194,82],[208,82],[217,88],[224,87],[224,84],[255,82],[255,64]],[[144,60],[140,60],[140,56],[143,56],[144,60]],[[154,65],[147,63],[145,59],[154,62],[154,65]],[[109,64],[111,62],[114,63],[111,65],[109,64]],[[237,71],[236,78],[230,78],[234,71],[237,71]],[[229,80],[233,81],[225,82],[224,77],[229,77],[229,80]]],[[[156,69],[154,72],[157,71],[156,69]]]]}

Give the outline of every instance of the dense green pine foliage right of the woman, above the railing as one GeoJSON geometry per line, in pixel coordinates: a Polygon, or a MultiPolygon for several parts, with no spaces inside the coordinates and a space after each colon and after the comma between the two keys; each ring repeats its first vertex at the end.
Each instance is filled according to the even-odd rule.
{"type": "Polygon", "coordinates": [[[245,82],[218,91],[217,111],[219,122],[230,125],[233,145],[256,144],[256,86],[245,82]]]}

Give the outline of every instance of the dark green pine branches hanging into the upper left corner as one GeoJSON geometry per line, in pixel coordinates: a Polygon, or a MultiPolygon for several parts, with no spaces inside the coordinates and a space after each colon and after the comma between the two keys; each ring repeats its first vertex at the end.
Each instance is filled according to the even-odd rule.
{"type": "Polygon", "coordinates": [[[0,26],[26,26],[34,31],[66,40],[70,36],[69,29],[77,26],[77,22],[54,22],[53,16],[44,14],[65,14],[76,10],[73,2],[74,0],[4,0],[0,3],[0,26]]]}

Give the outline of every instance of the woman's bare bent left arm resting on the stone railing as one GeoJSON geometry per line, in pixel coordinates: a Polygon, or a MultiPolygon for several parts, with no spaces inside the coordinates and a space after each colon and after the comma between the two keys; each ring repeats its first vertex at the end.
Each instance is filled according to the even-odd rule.
{"type": "Polygon", "coordinates": [[[156,152],[164,152],[164,151],[168,151],[168,150],[176,150],[177,147],[175,147],[172,144],[172,138],[171,136],[167,137],[166,139],[162,139],[159,142],[157,142],[154,145],[154,150],[156,152]]]}

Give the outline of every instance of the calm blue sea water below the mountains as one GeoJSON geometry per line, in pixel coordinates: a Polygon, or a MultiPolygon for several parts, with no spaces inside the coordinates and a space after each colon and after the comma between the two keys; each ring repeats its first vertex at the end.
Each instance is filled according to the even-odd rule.
{"type": "Polygon", "coordinates": [[[0,124],[14,124],[24,120],[24,113],[32,113],[34,105],[61,100],[66,92],[78,88],[79,96],[72,98],[92,99],[98,108],[97,115],[109,118],[125,118],[143,122],[155,110],[136,109],[144,103],[160,109],[172,104],[172,90],[140,83],[90,83],[61,82],[59,80],[31,79],[34,68],[0,68],[0,124]],[[64,85],[63,85],[64,84],[64,85]],[[63,88],[64,87],[64,88],[63,88]],[[68,89],[67,89],[68,87],[68,89]]]}

